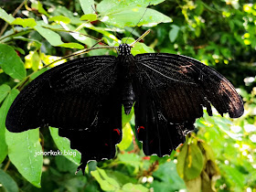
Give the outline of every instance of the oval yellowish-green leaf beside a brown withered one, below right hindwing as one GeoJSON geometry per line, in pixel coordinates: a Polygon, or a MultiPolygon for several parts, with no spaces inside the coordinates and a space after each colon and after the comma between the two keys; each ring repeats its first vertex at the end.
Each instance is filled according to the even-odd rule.
{"type": "Polygon", "coordinates": [[[197,144],[184,144],[177,156],[177,173],[185,180],[197,178],[203,170],[204,159],[197,144]]]}

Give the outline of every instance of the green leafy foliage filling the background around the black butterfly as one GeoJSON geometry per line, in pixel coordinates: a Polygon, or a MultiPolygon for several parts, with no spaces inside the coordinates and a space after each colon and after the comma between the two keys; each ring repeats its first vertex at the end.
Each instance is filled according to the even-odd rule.
{"type": "MultiPolygon", "coordinates": [[[[253,0],[2,0],[0,5],[0,190],[256,191],[253,0]],[[159,158],[144,156],[142,144],[134,138],[133,112],[123,114],[123,141],[116,157],[90,162],[85,176],[74,175],[78,152],[34,156],[40,150],[76,152],[57,129],[5,130],[6,112],[18,91],[60,63],[47,66],[52,61],[91,48],[97,39],[99,47],[118,45],[118,39],[131,32],[133,38],[140,37],[149,28],[151,33],[133,54],[154,50],[182,54],[217,69],[242,96],[244,115],[231,120],[227,114],[214,112],[209,117],[205,112],[196,122],[196,133],[189,133],[176,152],[159,158]]],[[[97,49],[85,56],[103,54],[116,52],[97,49]]]]}

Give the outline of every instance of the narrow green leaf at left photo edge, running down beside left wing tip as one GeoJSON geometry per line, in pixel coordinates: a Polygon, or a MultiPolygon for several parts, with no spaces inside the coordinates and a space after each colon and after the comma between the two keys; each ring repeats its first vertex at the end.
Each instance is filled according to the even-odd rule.
{"type": "Polygon", "coordinates": [[[19,91],[12,90],[9,91],[8,96],[6,97],[5,101],[3,102],[1,108],[0,108],[0,163],[2,163],[5,159],[5,156],[7,155],[8,149],[7,144],[5,141],[5,120],[7,112],[13,103],[13,101],[16,99],[17,94],[19,91]]]}

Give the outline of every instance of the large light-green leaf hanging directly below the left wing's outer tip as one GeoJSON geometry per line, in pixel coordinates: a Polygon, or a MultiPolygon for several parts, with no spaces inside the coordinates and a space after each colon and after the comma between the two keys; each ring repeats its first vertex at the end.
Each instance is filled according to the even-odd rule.
{"type": "Polygon", "coordinates": [[[39,129],[23,133],[5,132],[8,156],[18,172],[35,187],[41,187],[43,166],[42,146],[39,143],[39,129]]]}

